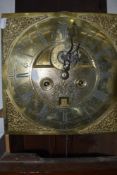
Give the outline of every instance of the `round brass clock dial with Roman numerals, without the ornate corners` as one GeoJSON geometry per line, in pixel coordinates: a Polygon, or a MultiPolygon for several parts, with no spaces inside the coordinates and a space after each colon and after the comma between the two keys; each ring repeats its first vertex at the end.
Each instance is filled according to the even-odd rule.
{"type": "Polygon", "coordinates": [[[21,33],[10,49],[10,98],[36,125],[83,129],[113,102],[116,59],[98,27],[75,16],[48,17],[21,33]]]}

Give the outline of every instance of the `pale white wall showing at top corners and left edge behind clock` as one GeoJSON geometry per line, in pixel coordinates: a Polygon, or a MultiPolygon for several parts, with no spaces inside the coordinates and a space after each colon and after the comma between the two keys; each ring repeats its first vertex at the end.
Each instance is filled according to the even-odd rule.
{"type": "MultiPolygon", "coordinates": [[[[15,12],[15,0],[0,0],[0,13],[15,12]]],[[[117,0],[107,0],[107,12],[117,13],[117,0]]],[[[1,55],[1,31],[0,31],[0,55],[1,55]]],[[[1,58],[0,58],[0,109],[2,109],[2,83],[1,83],[1,58]]],[[[0,119],[0,136],[3,134],[3,119],[0,119]]]]}

